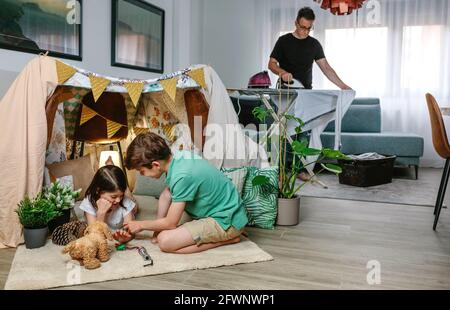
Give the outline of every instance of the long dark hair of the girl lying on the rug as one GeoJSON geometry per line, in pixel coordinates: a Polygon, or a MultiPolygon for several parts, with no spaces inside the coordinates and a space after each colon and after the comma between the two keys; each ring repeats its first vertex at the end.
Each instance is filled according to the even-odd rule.
{"type": "Polygon", "coordinates": [[[123,193],[127,190],[125,173],[117,166],[108,165],[98,169],[91,185],[86,190],[86,197],[88,197],[92,206],[97,208],[97,200],[100,199],[102,192],[115,192],[118,190],[123,193]]]}

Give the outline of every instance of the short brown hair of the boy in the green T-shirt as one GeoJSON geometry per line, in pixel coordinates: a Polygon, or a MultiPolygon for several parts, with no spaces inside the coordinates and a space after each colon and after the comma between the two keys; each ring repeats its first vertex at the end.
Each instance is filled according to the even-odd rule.
{"type": "Polygon", "coordinates": [[[155,133],[138,135],[127,149],[125,166],[128,170],[146,167],[151,169],[152,163],[169,159],[172,152],[166,141],[155,133]]]}

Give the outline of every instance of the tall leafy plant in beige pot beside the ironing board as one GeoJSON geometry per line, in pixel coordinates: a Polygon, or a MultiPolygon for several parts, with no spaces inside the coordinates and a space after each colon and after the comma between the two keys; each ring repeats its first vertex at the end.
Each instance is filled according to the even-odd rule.
{"type": "MultiPolygon", "coordinates": [[[[261,122],[265,122],[269,113],[273,113],[273,110],[257,107],[253,110],[253,114],[261,122]]],[[[302,128],[305,125],[304,122],[294,115],[282,114],[282,119],[286,121],[293,121],[296,125],[295,133],[301,134],[302,128]]],[[[277,225],[297,225],[299,221],[300,211],[300,195],[299,191],[312,179],[307,181],[300,181],[297,179],[297,175],[308,166],[320,164],[320,171],[315,174],[318,175],[324,170],[330,171],[335,174],[340,174],[342,169],[340,166],[329,163],[338,159],[347,160],[347,156],[340,151],[332,149],[313,149],[308,147],[308,141],[306,139],[302,141],[293,141],[291,147],[288,147],[288,132],[286,124],[281,127],[278,144],[278,163],[280,168],[279,173],[279,188],[278,190],[278,216],[277,225]],[[288,156],[293,157],[292,165],[288,166],[286,159],[288,156]],[[315,157],[316,160],[308,161],[308,157],[315,157]]],[[[269,138],[269,137],[267,137],[269,138]]],[[[265,176],[256,176],[252,180],[253,186],[267,186],[268,179],[265,176]]]]}

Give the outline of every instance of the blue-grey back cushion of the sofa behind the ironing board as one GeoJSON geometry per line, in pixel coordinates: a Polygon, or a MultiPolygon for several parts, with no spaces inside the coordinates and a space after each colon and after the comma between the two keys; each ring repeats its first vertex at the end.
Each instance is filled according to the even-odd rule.
{"type": "MultiPolygon", "coordinates": [[[[335,122],[328,124],[326,132],[334,132],[335,122]]],[[[342,132],[380,132],[381,107],[376,98],[355,99],[342,119],[342,132]]]]}

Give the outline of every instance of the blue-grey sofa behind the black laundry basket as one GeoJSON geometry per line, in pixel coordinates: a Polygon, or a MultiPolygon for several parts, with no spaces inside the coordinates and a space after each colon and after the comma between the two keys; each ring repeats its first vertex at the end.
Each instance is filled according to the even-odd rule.
{"type": "MultiPolygon", "coordinates": [[[[344,154],[376,152],[396,155],[396,166],[415,168],[416,179],[423,156],[423,137],[412,133],[382,132],[381,108],[378,98],[355,99],[342,120],[342,149],[344,154]]],[[[334,122],[321,135],[324,147],[334,147],[334,122]]]]}

